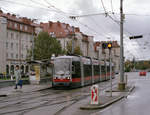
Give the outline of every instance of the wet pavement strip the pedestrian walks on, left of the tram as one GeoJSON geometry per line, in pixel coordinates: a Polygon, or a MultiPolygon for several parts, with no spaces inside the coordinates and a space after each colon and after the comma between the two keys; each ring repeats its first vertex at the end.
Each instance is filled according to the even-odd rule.
{"type": "Polygon", "coordinates": [[[6,97],[15,94],[16,91],[21,91],[22,93],[35,92],[44,89],[51,88],[51,83],[39,84],[39,85],[23,85],[22,89],[18,86],[18,89],[14,89],[15,86],[9,86],[0,88],[0,97],[6,97]]]}

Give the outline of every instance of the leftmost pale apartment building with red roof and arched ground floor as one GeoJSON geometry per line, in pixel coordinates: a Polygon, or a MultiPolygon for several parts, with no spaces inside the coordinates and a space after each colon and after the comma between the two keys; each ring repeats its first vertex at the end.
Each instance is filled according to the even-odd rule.
{"type": "Polygon", "coordinates": [[[27,51],[32,47],[38,28],[39,25],[26,17],[0,10],[0,73],[13,74],[16,65],[23,73],[28,72],[27,51]]]}

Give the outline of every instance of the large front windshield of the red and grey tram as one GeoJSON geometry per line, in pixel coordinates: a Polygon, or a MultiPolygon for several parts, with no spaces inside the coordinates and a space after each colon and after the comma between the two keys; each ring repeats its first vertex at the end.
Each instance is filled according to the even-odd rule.
{"type": "Polygon", "coordinates": [[[54,74],[66,75],[70,74],[70,59],[55,59],[54,60],[54,74]]]}

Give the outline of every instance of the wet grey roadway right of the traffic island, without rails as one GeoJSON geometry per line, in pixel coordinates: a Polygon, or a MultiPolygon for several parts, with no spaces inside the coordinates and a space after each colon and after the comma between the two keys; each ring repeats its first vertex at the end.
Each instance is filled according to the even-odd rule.
{"type": "Polygon", "coordinates": [[[91,115],[149,115],[150,114],[150,73],[140,77],[138,73],[129,73],[135,89],[127,97],[108,108],[91,115]]]}

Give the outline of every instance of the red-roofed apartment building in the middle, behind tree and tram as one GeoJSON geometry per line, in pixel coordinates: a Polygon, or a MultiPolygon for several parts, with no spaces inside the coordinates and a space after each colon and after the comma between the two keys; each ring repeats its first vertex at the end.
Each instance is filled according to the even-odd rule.
{"type": "Polygon", "coordinates": [[[79,46],[83,56],[93,57],[93,36],[83,34],[78,27],[73,27],[59,21],[41,23],[40,26],[52,37],[56,37],[60,41],[63,49],[66,50],[67,44],[74,40],[74,47],[79,46]]]}

